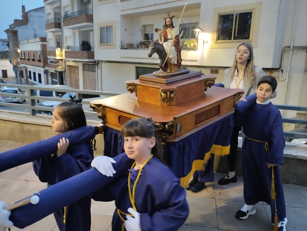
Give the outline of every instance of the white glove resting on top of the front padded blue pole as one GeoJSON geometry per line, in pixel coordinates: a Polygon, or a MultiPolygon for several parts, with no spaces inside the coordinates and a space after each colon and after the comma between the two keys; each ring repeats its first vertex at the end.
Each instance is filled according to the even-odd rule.
{"type": "Polygon", "coordinates": [[[112,163],[116,163],[116,161],[109,156],[97,156],[92,161],[91,166],[97,168],[103,175],[113,176],[113,173],[115,174],[116,171],[112,163]]]}

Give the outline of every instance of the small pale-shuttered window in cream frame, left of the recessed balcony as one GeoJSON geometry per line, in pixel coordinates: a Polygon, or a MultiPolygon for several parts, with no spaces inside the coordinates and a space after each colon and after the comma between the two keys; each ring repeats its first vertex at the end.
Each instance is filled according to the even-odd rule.
{"type": "Polygon", "coordinates": [[[99,46],[98,49],[116,49],[115,21],[97,24],[99,46]]]}

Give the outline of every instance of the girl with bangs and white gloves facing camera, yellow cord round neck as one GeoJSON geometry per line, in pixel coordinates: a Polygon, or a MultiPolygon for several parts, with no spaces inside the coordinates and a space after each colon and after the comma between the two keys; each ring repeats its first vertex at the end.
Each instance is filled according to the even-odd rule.
{"type": "MultiPolygon", "coordinates": [[[[178,230],[189,213],[185,190],[164,164],[155,125],[146,118],[133,119],[122,126],[121,134],[125,153],[134,164],[91,197],[115,200],[112,231],[178,230]]],[[[111,163],[112,158],[99,156],[91,166],[103,174],[110,168],[115,173],[111,163]]]]}

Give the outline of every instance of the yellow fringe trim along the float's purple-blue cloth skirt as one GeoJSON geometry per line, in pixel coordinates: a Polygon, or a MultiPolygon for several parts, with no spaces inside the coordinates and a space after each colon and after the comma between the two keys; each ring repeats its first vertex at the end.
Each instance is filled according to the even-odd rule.
{"type": "Polygon", "coordinates": [[[180,184],[182,187],[187,188],[189,185],[189,180],[193,176],[195,171],[203,171],[205,164],[208,163],[208,160],[211,158],[211,153],[217,156],[225,156],[229,154],[229,148],[230,145],[228,146],[221,146],[221,145],[216,145],[213,144],[212,148],[210,149],[209,152],[205,153],[204,160],[194,160],[192,164],[192,169],[189,172],[188,175],[181,177],[180,179],[180,184]]]}

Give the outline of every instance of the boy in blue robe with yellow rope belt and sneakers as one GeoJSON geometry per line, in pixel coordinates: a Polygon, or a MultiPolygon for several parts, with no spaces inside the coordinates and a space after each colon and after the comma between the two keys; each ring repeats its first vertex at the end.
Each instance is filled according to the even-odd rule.
{"type": "Polygon", "coordinates": [[[266,202],[271,206],[273,230],[285,231],[286,206],[278,166],[284,164],[285,140],[281,114],[270,102],[276,87],[274,77],[263,76],[257,84],[257,98],[253,94],[236,106],[235,123],[243,125],[246,138],[242,145],[245,204],[235,217],[246,219],[256,213],[256,203],[266,202]]]}

